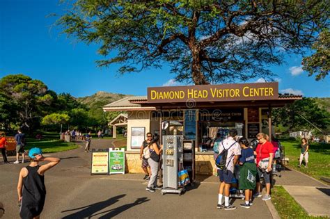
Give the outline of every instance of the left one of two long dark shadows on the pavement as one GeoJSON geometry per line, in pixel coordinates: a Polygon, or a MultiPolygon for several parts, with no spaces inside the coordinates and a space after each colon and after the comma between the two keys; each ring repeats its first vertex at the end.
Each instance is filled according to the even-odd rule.
{"type": "Polygon", "coordinates": [[[97,202],[97,203],[94,203],[94,204],[91,204],[91,205],[82,206],[82,207],[77,208],[77,209],[65,210],[65,211],[62,211],[61,213],[65,213],[65,212],[68,212],[68,211],[81,210],[81,211],[72,213],[68,216],[64,216],[63,218],[90,218],[93,215],[93,213],[101,211],[102,209],[107,208],[111,204],[115,204],[116,202],[119,201],[120,198],[124,197],[125,195],[126,194],[117,195],[115,197],[109,198],[109,200],[105,200],[105,201],[102,201],[102,202],[97,202]]]}

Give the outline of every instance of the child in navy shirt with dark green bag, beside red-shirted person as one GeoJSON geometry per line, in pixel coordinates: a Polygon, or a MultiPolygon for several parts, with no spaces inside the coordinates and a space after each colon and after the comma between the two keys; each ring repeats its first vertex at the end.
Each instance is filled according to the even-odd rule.
{"type": "Polygon", "coordinates": [[[242,147],[239,158],[239,189],[245,190],[245,202],[240,206],[249,209],[252,204],[252,190],[256,188],[257,166],[249,141],[246,138],[240,138],[238,142],[242,147]]]}

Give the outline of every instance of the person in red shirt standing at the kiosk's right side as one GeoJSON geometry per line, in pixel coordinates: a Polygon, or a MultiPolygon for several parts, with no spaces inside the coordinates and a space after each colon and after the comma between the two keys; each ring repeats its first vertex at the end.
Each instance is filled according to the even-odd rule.
{"type": "Polygon", "coordinates": [[[265,133],[258,133],[257,139],[259,140],[259,144],[254,152],[256,154],[257,159],[257,170],[258,175],[257,178],[257,193],[253,195],[254,197],[261,197],[261,184],[260,184],[260,176],[264,176],[265,184],[266,184],[266,195],[262,197],[262,200],[267,201],[270,200],[270,186],[271,186],[271,175],[272,175],[272,162],[274,155],[274,146],[272,143],[266,140],[265,133]]]}

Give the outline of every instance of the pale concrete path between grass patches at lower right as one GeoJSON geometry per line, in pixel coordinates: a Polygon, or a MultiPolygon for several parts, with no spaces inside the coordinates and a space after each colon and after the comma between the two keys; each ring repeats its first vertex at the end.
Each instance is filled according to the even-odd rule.
{"type": "Polygon", "coordinates": [[[330,187],[296,170],[282,171],[282,177],[276,177],[277,185],[296,200],[310,216],[330,217],[330,187]]]}

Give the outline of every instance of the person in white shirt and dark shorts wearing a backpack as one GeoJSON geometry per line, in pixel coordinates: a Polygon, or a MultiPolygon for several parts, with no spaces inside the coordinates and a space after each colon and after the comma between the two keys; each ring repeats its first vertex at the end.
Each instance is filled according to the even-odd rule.
{"type": "Polygon", "coordinates": [[[218,209],[225,210],[235,210],[236,207],[229,204],[229,189],[231,181],[233,180],[234,167],[237,161],[239,160],[239,155],[241,155],[241,147],[239,143],[235,140],[237,136],[237,130],[231,129],[229,131],[229,137],[222,140],[219,145],[219,154],[223,149],[228,149],[227,159],[226,159],[226,170],[218,169],[218,175],[220,179],[219,185],[219,200],[217,204],[218,209]],[[225,197],[225,203],[222,202],[222,197],[225,197]]]}

